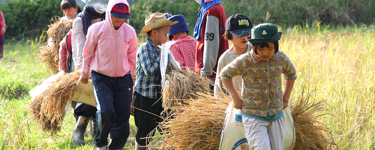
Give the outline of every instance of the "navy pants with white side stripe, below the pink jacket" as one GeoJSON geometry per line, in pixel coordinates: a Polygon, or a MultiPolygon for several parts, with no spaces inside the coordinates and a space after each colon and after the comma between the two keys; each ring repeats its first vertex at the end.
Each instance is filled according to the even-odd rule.
{"type": "Polygon", "coordinates": [[[133,80],[131,74],[123,77],[109,77],[92,71],[95,94],[96,120],[98,133],[96,146],[108,145],[111,133],[110,150],[124,147],[129,137],[130,103],[132,102],[133,80]]]}

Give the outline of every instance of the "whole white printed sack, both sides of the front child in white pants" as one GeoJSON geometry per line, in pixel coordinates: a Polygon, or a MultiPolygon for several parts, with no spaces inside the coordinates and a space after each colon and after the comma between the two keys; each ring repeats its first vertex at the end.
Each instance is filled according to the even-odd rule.
{"type": "MultiPolygon", "coordinates": [[[[292,150],[296,142],[296,130],[290,108],[285,108],[283,113],[285,121],[284,150],[292,150]]],[[[226,108],[219,150],[249,150],[248,141],[243,130],[241,110],[234,108],[232,102],[226,108]]]]}

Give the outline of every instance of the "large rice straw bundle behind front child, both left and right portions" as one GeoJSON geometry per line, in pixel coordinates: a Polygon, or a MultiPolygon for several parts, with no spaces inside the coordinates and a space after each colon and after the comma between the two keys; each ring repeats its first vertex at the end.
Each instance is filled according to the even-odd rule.
{"type": "MultiPolygon", "coordinates": [[[[198,94],[197,100],[185,101],[178,110],[182,113],[175,115],[160,125],[163,130],[163,141],[158,142],[165,150],[217,150],[220,134],[225,120],[225,110],[231,102],[230,96],[198,94]]],[[[334,143],[328,142],[328,129],[320,124],[318,117],[326,111],[323,101],[309,103],[308,97],[299,98],[296,106],[291,107],[296,127],[295,150],[327,150],[334,143]]],[[[293,104],[292,104],[293,105],[293,104]]],[[[176,108],[171,108],[176,109],[176,108]]],[[[332,134],[332,133],[331,133],[332,134]]]]}

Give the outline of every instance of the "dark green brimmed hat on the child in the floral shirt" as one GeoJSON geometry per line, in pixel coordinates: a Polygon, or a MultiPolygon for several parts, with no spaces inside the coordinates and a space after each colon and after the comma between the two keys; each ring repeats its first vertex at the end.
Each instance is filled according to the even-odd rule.
{"type": "Polygon", "coordinates": [[[246,37],[246,39],[252,44],[267,43],[281,39],[281,34],[275,24],[263,23],[253,27],[251,37],[246,37]]]}

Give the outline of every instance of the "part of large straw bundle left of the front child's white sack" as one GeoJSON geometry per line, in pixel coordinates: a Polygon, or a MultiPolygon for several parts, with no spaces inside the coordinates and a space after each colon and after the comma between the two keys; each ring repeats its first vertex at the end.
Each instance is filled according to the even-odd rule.
{"type": "MultiPolygon", "coordinates": [[[[198,94],[197,100],[186,100],[189,105],[178,108],[182,113],[163,122],[164,138],[161,147],[165,150],[217,150],[225,120],[229,96],[198,94]]],[[[176,109],[176,108],[171,108],[176,109]]]]}

